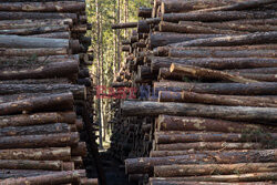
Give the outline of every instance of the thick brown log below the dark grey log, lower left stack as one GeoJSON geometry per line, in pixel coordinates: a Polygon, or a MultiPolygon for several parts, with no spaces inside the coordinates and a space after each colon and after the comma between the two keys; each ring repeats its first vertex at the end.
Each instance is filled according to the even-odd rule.
{"type": "Polygon", "coordinates": [[[10,136],[0,137],[0,148],[64,147],[76,145],[78,142],[78,133],[10,136]]]}

